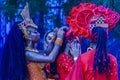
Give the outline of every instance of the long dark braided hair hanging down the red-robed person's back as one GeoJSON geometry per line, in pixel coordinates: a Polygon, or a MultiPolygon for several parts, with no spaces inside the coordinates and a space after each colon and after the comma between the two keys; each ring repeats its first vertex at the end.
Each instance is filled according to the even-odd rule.
{"type": "Polygon", "coordinates": [[[96,71],[98,68],[98,73],[106,73],[109,71],[110,58],[107,55],[107,33],[106,29],[102,27],[95,27],[92,29],[92,34],[96,34],[96,52],[94,55],[93,68],[96,71]]]}

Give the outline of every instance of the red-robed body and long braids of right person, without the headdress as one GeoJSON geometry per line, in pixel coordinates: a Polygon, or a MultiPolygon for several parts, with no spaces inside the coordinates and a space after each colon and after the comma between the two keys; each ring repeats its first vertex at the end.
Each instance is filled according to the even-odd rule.
{"type": "Polygon", "coordinates": [[[66,80],[118,80],[116,58],[106,48],[106,29],[95,27],[92,34],[95,47],[78,57],[66,80]]]}

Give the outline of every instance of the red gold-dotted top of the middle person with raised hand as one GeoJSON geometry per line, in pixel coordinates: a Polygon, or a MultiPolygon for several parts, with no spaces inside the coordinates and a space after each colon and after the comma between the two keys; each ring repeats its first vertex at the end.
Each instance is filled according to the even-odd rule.
{"type": "Polygon", "coordinates": [[[61,53],[57,59],[57,72],[59,74],[59,80],[65,80],[68,73],[72,70],[74,64],[73,57],[61,53]]]}

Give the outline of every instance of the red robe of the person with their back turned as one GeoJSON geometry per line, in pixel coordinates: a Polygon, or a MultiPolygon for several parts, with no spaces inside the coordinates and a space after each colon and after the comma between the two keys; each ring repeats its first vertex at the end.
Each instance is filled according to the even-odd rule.
{"type": "MultiPolygon", "coordinates": [[[[99,74],[96,71],[96,75],[94,75],[94,54],[95,50],[81,54],[66,80],[107,80],[104,73],[99,74]]],[[[108,72],[108,80],[118,80],[118,67],[116,58],[111,54],[108,54],[108,56],[110,57],[111,66],[111,71],[108,72]]]]}

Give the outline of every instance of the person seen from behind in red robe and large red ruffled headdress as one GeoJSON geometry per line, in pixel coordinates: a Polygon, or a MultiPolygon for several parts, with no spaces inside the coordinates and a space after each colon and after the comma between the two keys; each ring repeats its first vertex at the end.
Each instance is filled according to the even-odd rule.
{"type": "Polygon", "coordinates": [[[108,28],[118,21],[119,14],[103,6],[81,3],[72,9],[67,18],[70,32],[91,38],[94,45],[78,57],[66,80],[118,80],[116,58],[107,52],[108,28]]]}

